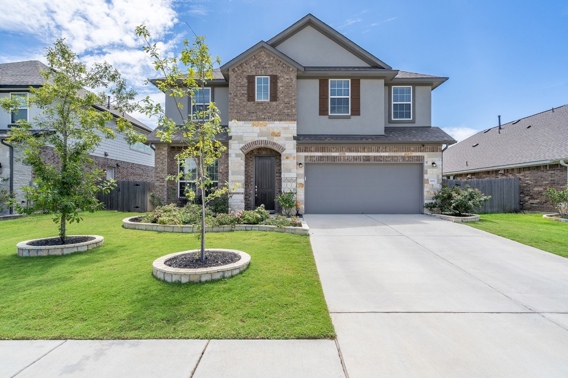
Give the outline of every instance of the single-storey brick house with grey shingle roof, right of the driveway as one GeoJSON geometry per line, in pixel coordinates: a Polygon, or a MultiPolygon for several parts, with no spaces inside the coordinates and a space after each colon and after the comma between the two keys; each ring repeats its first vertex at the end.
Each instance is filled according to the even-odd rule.
{"type": "Polygon", "coordinates": [[[544,190],[568,184],[568,105],[496,126],[444,152],[444,177],[519,177],[521,210],[554,211],[544,190]]]}

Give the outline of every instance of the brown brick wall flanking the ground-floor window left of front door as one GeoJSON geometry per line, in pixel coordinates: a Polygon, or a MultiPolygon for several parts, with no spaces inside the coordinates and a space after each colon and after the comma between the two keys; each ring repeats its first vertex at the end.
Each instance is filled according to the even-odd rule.
{"type": "MultiPolygon", "coordinates": [[[[166,180],[168,175],[177,175],[178,166],[176,155],[182,151],[182,146],[170,146],[165,143],[156,145],[156,156],[154,177],[156,182],[154,192],[165,202],[177,201],[177,183],[175,181],[166,180]]],[[[218,162],[218,180],[219,186],[225,186],[225,182],[229,180],[229,152],[222,152],[218,162]]]]}

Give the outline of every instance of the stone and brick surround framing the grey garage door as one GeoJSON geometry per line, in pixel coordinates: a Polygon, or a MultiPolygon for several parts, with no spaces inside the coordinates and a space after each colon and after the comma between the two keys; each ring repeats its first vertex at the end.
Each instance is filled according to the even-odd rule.
{"type": "Polygon", "coordinates": [[[300,213],[304,212],[304,163],[310,162],[416,162],[424,166],[424,202],[432,201],[442,184],[442,150],[441,146],[406,146],[406,145],[299,145],[296,154],[298,167],[298,201],[300,213]],[[432,168],[432,162],[436,168],[432,168]],[[430,184],[436,179],[437,184],[430,184]]]}

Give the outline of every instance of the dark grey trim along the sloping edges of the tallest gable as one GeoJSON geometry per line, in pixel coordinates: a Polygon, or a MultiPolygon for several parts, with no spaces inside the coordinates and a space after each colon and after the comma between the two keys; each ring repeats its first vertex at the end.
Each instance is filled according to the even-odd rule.
{"type": "Polygon", "coordinates": [[[312,28],[318,30],[323,35],[327,36],[329,39],[334,41],[335,43],[342,46],[344,49],[348,50],[354,56],[360,58],[362,61],[366,62],[370,66],[379,67],[382,69],[390,70],[392,69],[391,66],[387,65],[385,62],[381,61],[379,58],[375,57],[373,54],[367,52],[365,49],[361,48],[361,46],[354,43],[352,40],[345,37],[340,32],[333,29],[328,24],[324,23],[316,16],[312,14],[307,14],[290,27],[286,28],[284,31],[278,33],[274,37],[268,40],[268,44],[276,47],[281,44],[283,41],[289,39],[295,33],[299,32],[303,28],[311,26],[312,28]]]}

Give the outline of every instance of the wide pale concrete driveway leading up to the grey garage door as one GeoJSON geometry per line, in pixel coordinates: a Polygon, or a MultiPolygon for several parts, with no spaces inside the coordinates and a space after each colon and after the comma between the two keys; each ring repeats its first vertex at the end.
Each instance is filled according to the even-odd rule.
{"type": "Polygon", "coordinates": [[[568,377],[568,259],[427,215],[306,215],[350,378],[568,377]]]}

